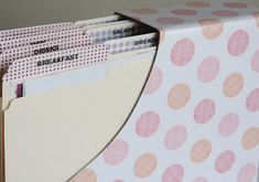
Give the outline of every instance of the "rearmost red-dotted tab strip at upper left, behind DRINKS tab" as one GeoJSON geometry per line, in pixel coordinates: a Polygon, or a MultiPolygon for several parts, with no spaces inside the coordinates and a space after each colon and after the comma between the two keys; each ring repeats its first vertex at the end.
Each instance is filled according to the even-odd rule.
{"type": "Polygon", "coordinates": [[[13,36],[13,35],[32,33],[32,32],[40,32],[40,31],[45,31],[50,29],[72,26],[73,24],[74,24],[73,22],[65,22],[65,23],[44,24],[44,25],[28,26],[28,28],[20,28],[20,29],[2,30],[0,31],[0,38],[13,36]]]}

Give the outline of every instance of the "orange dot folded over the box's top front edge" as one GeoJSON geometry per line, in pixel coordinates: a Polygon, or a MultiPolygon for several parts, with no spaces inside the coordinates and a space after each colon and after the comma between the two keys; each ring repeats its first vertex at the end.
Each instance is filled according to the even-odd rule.
{"type": "Polygon", "coordinates": [[[223,30],[224,24],[217,19],[202,19],[199,20],[199,25],[202,26],[202,33],[208,40],[218,38],[223,30]]]}

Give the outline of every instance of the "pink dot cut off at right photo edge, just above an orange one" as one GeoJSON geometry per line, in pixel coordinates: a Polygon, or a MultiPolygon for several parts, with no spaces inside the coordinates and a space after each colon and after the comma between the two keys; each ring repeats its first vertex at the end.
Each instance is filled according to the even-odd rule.
{"type": "Polygon", "coordinates": [[[246,105],[249,111],[259,111],[259,88],[253,89],[248,95],[246,105]]]}

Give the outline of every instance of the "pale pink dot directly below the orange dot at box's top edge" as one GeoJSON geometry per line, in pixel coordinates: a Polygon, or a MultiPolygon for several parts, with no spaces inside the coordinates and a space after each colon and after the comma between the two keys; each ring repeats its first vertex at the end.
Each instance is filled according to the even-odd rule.
{"type": "Polygon", "coordinates": [[[205,58],[198,66],[198,78],[208,83],[212,82],[219,72],[219,61],[216,57],[207,57],[205,58]]]}

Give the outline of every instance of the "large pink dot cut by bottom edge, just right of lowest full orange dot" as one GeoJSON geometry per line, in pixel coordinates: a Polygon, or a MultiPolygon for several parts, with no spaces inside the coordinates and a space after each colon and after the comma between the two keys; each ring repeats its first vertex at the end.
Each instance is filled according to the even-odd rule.
{"type": "Polygon", "coordinates": [[[180,164],[169,167],[162,176],[162,182],[181,182],[184,175],[184,168],[180,164]]]}

